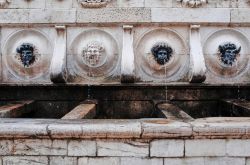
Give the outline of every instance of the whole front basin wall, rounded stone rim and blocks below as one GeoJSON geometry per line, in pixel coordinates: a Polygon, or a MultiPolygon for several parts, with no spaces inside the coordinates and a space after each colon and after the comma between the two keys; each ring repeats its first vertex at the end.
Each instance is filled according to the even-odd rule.
{"type": "Polygon", "coordinates": [[[250,122],[0,121],[1,165],[248,165],[250,122]]]}

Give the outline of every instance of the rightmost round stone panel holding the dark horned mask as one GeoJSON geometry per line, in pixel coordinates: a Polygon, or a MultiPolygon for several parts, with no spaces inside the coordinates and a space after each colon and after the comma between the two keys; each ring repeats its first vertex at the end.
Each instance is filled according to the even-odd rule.
{"type": "Polygon", "coordinates": [[[246,72],[249,62],[249,40],[235,29],[222,29],[209,34],[203,45],[210,81],[237,79],[246,72]]]}

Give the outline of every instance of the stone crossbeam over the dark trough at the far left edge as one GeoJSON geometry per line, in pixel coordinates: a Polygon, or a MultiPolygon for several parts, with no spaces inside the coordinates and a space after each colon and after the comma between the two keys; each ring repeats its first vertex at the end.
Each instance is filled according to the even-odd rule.
{"type": "Polygon", "coordinates": [[[0,106],[0,118],[18,118],[23,114],[30,113],[34,101],[10,102],[0,106]]]}

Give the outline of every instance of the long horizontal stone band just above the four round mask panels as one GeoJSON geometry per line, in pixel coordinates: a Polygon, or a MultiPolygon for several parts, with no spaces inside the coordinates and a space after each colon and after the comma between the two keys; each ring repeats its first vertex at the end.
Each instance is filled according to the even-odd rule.
{"type": "Polygon", "coordinates": [[[249,13],[242,8],[1,9],[0,24],[249,24],[249,13]]]}

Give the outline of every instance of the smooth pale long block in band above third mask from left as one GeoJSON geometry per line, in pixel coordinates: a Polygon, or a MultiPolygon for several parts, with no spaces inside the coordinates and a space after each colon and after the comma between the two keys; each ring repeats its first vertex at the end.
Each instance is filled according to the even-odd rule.
{"type": "Polygon", "coordinates": [[[167,23],[229,23],[230,9],[226,8],[152,8],[152,22],[167,23]]]}

